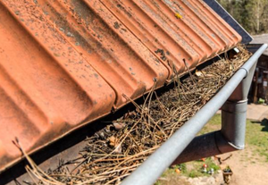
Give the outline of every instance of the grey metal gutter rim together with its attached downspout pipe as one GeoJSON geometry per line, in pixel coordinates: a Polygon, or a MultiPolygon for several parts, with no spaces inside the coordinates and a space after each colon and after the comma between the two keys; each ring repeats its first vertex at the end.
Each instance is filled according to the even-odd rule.
{"type": "MultiPolygon", "coordinates": [[[[240,123],[245,124],[245,113],[247,110],[246,91],[248,92],[250,87],[250,81],[252,80],[252,76],[255,71],[255,64],[266,48],[266,44],[261,46],[255,54],[248,59],[247,63],[245,63],[239,71],[230,78],[225,86],[202,109],[200,109],[195,116],[186,122],[180,130],[177,130],[172,137],[162,145],[162,147],[158,148],[152,156],[149,156],[147,160],[141,164],[136,171],[132,172],[126,180],[122,181],[121,184],[129,185],[134,182],[138,185],[154,184],[157,178],[161,176],[165,169],[175,160],[175,162],[180,162],[180,158],[177,159],[177,157],[180,156],[193,139],[194,141],[188,149],[190,153],[197,151],[197,149],[199,150],[200,147],[197,147],[196,149],[191,147],[197,145],[199,140],[201,140],[199,144],[202,143],[202,146],[209,145],[210,148],[214,148],[212,149],[211,154],[219,154],[220,152],[230,152],[232,150],[242,149],[244,147],[245,125],[243,128],[243,125],[230,125],[230,123],[226,121],[230,118],[230,120],[235,123],[243,121],[240,123]],[[243,79],[246,79],[245,82],[240,83],[243,79]],[[236,92],[233,93],[235,90],[236,92]],[[239,97],[244,99],[239,100],[239,97]],[[229,101],[225,103],[226,100],[229,101]],[[225,105],[222,107],[224,103],[225,105]],[[234,104],[231,105],[230,103],[234,104]],[[222,130],[220,132],[213,132],[195,139],[197,132],[205,126],[206,122],[208,122],[221,107],[223,108],[222,130]],[[237,111],[241,113],[240,116],[234,116],[234,114],[230,111],[237,111]],[[220,146],[219,150],[217,150],[217,146],[220,146]]],[[[188,152],[185,154],[188,154],[188,152]]],[[[199,158],[200,156],[197,157],[199,158]]],[[[193,156],[193,158],[195,157],[193,156]]]]}

